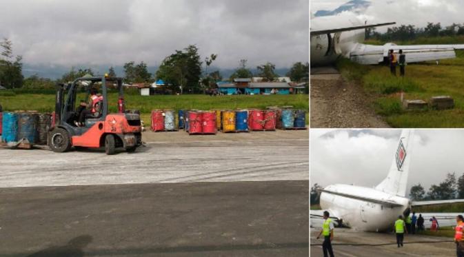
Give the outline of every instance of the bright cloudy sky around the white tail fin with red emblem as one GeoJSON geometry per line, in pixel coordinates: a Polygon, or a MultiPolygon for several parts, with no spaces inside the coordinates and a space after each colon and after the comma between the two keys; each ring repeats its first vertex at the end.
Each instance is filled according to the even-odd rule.
{"type": "MultiPolygon", "coordinates": [[[[365,187],[387,176],[401,130],[311,130],[310,183],[365,187]]],[[[464,173],[462,130],[416,130],[411,151],[410,187],[421,183],[427,191],[447,172],[464,173]]]]}

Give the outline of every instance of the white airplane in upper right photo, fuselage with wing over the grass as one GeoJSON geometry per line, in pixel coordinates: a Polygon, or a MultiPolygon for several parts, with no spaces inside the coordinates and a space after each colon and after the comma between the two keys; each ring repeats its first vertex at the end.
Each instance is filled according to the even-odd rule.
{"type": "Polygon", "coordinates": [[[312,17],[310,23],[310,63],[321,66],[334,63],[339,56],[345,56],[356,63],[379,64],[387,61],[388,51],[400,49],[406,54],[407,63],[438,61],[456,57],[454,50],[464,49],[460,45],[365,45],[365,29],[390,23],[364,24],[352,14],[327,17],[312,17]]]}

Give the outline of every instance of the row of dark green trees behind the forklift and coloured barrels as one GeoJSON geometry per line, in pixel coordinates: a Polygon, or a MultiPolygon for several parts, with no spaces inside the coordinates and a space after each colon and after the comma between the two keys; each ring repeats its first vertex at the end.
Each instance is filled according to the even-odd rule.
{"type": "MultiPolygon", "coordinates": [[[[66,83],[85,75],[99,75],[92,68],[76,69],[73,67],[55,81],[41,78],[37,74],[24,79],[22,75],[22,57],[13,56],[12,42],[3,39],[0,47],[3,49],[0,59],[0,85],[8,89],[52,89],[57,82],[66,83]]],[[[210,54],[203,62],[199,55],[199,48],[196,45],[188,45],[183,50],[175,50],[173,54],[166,56],[154,74],[148,72],[148,65],[143,61],[140,63],[134,61],[124,63],[124,82],[129,84],[153,83],[161,79],[172,92],[204,92],[205,89],[214,87],[217,81],[223,80],[219,70],[210,71],[210,65],[217,57],[218,54],[210,54]]],[[[263,63],[256,67],[258,72],[253,74],[250,68],[247,67],[247,60],[242,59],[239,62],[239,67],[236,68],[229,80],[259,76],[263,78],[263,81],[276,81],[279,74],[276,74],[275,68],[276,66],[273,63],[263,63]]],[[[116,76],[114,67],[108,68],[107,73],[110,76],[116,76]]],[[[294,63],[286,75],[290,76],[292,81],[307,82],[309,79],[309,63],[294,63]]]]}

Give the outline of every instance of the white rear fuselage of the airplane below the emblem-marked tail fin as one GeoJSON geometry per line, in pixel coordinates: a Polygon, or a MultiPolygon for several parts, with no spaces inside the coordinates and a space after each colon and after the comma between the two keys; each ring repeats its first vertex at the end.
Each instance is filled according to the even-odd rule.
{"type": "Polygon", "coordinates": [[[336,210],[334,215],[343,220],[343,224],[360,231],[379,232],[392,229],[394,221],[410,207],[410,200],[394,196],[374,188],[353,185],[330,185],[321,192],[322,209],[336,210]],[[328,191],[328,192],[327,192],[328,191]],[[329,192],[334,192],[331,194],[329,192]],[[353,197],[341,196],[350,194],[353,197]],[[363,201],[369,197],[379,201],[388,201],[400,206],[385,205],[363,201]]]}

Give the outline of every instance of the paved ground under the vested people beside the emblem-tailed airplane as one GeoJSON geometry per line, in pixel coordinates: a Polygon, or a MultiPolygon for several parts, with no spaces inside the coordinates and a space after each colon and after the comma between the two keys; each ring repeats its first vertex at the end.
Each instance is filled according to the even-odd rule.
{"type": "MultiPolygon", "coordinates": [[[[311,256],[323,256],[322,239],[316,240],[320,229],[311,229],[311,256]]],[[[354,232],[335,229],[332,241],[335,256],[456,256],[452,238],[405,235],[404,247],[398,248],[394,234],[354,232]],[[443,242],[447,241],[447,242],[443,242]]]]}

